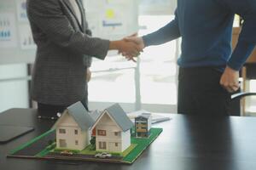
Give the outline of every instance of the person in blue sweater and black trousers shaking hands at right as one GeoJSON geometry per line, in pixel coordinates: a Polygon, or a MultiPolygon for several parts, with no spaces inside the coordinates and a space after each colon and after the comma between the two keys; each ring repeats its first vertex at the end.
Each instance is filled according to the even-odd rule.
{"type": "Polygon", "coordinates": [[[177,112],[229,115],[230,94],[238,90],[239,70],[256,43],[256,1],[177,0],[174,20],[158,31],[126,40],[143,49],[178,37],[182,37],[182,54],[177,59],[177,112]],[[244,22],[232,53],[235,14],[244,22]]]}

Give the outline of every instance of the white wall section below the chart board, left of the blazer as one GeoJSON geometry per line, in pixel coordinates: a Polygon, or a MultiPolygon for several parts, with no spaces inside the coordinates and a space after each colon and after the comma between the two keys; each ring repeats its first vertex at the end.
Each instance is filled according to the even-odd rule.
{"type": "Polygon", "coordinates": [[[11,80],[26,76],[26,64],[0,65],[0,112],[10,108],[28,108],[27,80],[11,80]]]}

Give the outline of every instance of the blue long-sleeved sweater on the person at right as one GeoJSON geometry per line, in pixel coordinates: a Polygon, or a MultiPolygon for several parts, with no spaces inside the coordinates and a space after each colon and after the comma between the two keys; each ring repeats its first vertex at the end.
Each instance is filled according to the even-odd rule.
{"type": "Polygon", "coordinates": [[[143,37],[145,46],[182,37],[181,67],[217,66],[238,71],[256,44],[256,0],[177,0],[175,19],[143,37]],[[244,22],[232,53],[235,14],[244,22]]]}

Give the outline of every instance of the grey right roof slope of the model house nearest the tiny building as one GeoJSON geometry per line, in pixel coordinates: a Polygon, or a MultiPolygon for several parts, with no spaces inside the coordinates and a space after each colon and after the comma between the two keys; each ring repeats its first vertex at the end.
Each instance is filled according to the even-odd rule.
{"type": "Polygon", "coordinates": [[[133,127],[133,123],[119,104],[114,104],[108,107],[106,111],[108,111],[108,114],[112,116],[119,127],[122,128],[123,132],[133,127]]]}

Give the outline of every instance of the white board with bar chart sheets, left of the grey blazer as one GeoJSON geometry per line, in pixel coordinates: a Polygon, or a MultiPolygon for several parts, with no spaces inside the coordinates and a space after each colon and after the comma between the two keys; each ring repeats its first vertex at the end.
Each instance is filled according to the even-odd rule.
{"type": "Polygon", "coordinates": [[[26,15],[26,0],[0,0],[0,65],[32,63],[36,45],[26,15]]]}

